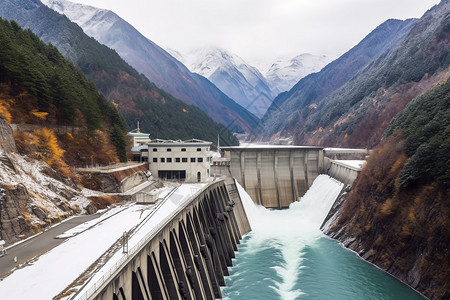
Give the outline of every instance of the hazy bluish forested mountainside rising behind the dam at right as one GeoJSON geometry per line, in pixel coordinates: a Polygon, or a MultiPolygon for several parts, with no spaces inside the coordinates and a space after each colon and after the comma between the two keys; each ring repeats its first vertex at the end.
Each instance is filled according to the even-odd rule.
{"type": "Polygon", "coordinates": [[[375,147],[397,113],[416,96],[448,78],[449,11],[450,2],[444,0],[419,20],[410,21],[412,26],[406,25],[408,21],[402,26],[401,21],[379,26],[355,47],[361,48],[369,40],[374,45],[386,45],[378,48],[377,55],[369,55],[373,52],[370,48],[359,52],[352,49],[317,75],[301,80],[275,101],[273,112],[265,117],[265,134],[293,136],[296,144],[375,147]],[[386,31],[388,28],[391,30],[386,31]],[[388,40],[383,36],[392,42],[386,44],[388,40]],[[334,66],[335,72],[349,68],[360,62],[361,55],[366,65],[340,87],[327,92],[340,82],[339,78],[325,76],[328,68],[334,66]],[[336,64],[347,56],[346,64],[336,64]]]}

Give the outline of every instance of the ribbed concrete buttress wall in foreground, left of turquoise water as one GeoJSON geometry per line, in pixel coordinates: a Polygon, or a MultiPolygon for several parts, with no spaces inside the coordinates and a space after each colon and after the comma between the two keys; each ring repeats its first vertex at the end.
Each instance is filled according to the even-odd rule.
{"type": "Polygon", "coordinates": [[[224,276],[248,231],[233,180],[217,180],[133,249],[95,291],[81,291],[77,299],[221,298],[224,276]]]}

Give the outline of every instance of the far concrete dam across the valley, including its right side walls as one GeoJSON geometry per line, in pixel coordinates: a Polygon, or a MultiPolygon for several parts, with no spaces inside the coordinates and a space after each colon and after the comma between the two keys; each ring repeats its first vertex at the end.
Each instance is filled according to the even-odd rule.
{"type": "Polygon", "coordinates": [[[303,196],[319,174],[352,184],[359,168],[326,156],[366,155],[365,149],[313,146],[252,145],[222,147],[224,158],[213,161],[211,174],[236,178],[257,204],[287,208],[303,196]]]}

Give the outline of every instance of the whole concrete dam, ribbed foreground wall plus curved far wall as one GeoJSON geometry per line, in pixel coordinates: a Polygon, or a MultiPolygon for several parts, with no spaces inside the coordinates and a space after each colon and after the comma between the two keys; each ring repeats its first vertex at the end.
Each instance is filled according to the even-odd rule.
{"type": "Polygon", "coordinates": [[[319,174],[351,184],[359,172],[325,157],[321,147],[222,149],[225,157],[211,165],[220,178],[168,211],[138,246],[124,250],[116,266],[69,299],[221,298],[237,245],[251,230],[235,180],[258,204],[284,208],[319,174]]]}

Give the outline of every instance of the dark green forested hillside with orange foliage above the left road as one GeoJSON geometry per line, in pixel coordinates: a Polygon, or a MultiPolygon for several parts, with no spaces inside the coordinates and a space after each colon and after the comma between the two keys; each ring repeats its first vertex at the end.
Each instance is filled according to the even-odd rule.
{"type": "Polygon", "coordinates": [[[3,19],[0,45],[0,115],[9,123],[39,125],[33,133],[17,133],[19,149],[33,153],[46,140],[48,149],[41,152],[47,154],[41,154],[52,152],[56,156],[48,162],[56,163],[57,156],[62,158],[55,140],[59,132],[71,164],[92,155],[98,163],[126,160],[126,128],[119,112],[54,46],[3,19]]]}

